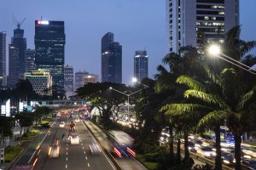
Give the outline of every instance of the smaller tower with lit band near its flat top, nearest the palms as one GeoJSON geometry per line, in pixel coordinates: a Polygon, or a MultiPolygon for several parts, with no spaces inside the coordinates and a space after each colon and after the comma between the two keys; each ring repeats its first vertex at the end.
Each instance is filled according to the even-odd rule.
{"type": "Polygon", "coordinates": [[[134,77],[141,82],[148,78],[148,54],[147,51],[136,51],[134,55],[134,77]]]}

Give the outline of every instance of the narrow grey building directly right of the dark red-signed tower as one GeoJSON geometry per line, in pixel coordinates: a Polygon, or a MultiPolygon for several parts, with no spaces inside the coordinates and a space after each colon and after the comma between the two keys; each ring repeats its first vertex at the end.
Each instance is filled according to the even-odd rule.
{"type": "Polygon", "coordinates": [[[64,89],[66,96],[73,95],[73,66],[64,65],[64,89]]]}

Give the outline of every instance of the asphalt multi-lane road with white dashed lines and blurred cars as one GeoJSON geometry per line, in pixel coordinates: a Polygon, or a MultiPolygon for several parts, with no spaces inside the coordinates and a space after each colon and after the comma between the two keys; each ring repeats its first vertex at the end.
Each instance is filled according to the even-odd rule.
{"type": "MultiPolygon", "coordinates": [[[[74,117],[73,117],[74,118],[74,117]]],[[[108,156],[104,152],[99,152],[97,155],[91,155],[88,150],[89,144],[94,142],[94,139],[84,126],[82,121],[75,123],[75,131],[70,132],[66,126],[60,127],[60,122],[65,122],[66,125],[70,123],[73,118],[68,116],[61,116],[59,119],[55,120],[52,127],[48,132],[42,133],[44,138],[41,144],[41,150],[39,153],[36,153],[38,156],[38,162],[35,164],[35,170],[63,170],[63,169],[72,169],[72,170],[82,170],[82,169],[99,169],[99,170],[113,170],[116,169],[113,166],[112,161],[109,160],[108,156]],[[79,144],[71,144],[68,136],[72,133],[79,134],[79,144]],[[63,138],[64,137],[64,138],[63,138]],[[60,139],[60,156],[57,158],[50,158],[48,156],[49,145],[56,142],[57,139],[60,139]]],[[[32,151],[26,150],[25,154],[20,157],[15,163],[15,167],[21,167],[21,165],[32,164],[29,162],[29,156],[32,151]],[[26,158],[25,158],[26,156],[26,158]]]]}

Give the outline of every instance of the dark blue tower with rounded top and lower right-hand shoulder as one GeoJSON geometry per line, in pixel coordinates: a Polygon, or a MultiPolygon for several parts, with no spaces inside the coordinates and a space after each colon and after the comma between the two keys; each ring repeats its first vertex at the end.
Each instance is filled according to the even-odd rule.
{"type": "Polygon", "coordinates": [[[122,83],[122,46],[113,39],[111,32],[102,37],[102,82],[122,83]]]}

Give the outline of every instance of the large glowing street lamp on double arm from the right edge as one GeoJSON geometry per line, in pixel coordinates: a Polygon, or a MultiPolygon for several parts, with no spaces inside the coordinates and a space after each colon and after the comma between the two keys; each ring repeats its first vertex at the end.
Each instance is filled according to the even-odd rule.
{"type": "Polygon", "coordinates": [[[215,57],[218,57],[220,59],[224,59],[225,61],[229,62],[230,64],[232,65],[236,65],[237,67],[241,68],[242,70],[244,71],[247,71],[247,72],[250,72],[251,74],[253,75],[256,75],[256,70],[254,68],[254,65],[253,67],[250,67],[248,65],[245,65],[239,61],[237,61],[236,59],[232,59],[230,58],[229,56],[223,54],[221,52],[221,48],[220,46],[218,46],[217,44],[212,44],[208,47],[208,53],[211,54],[212,56],[215,56],[215,57]]]}

